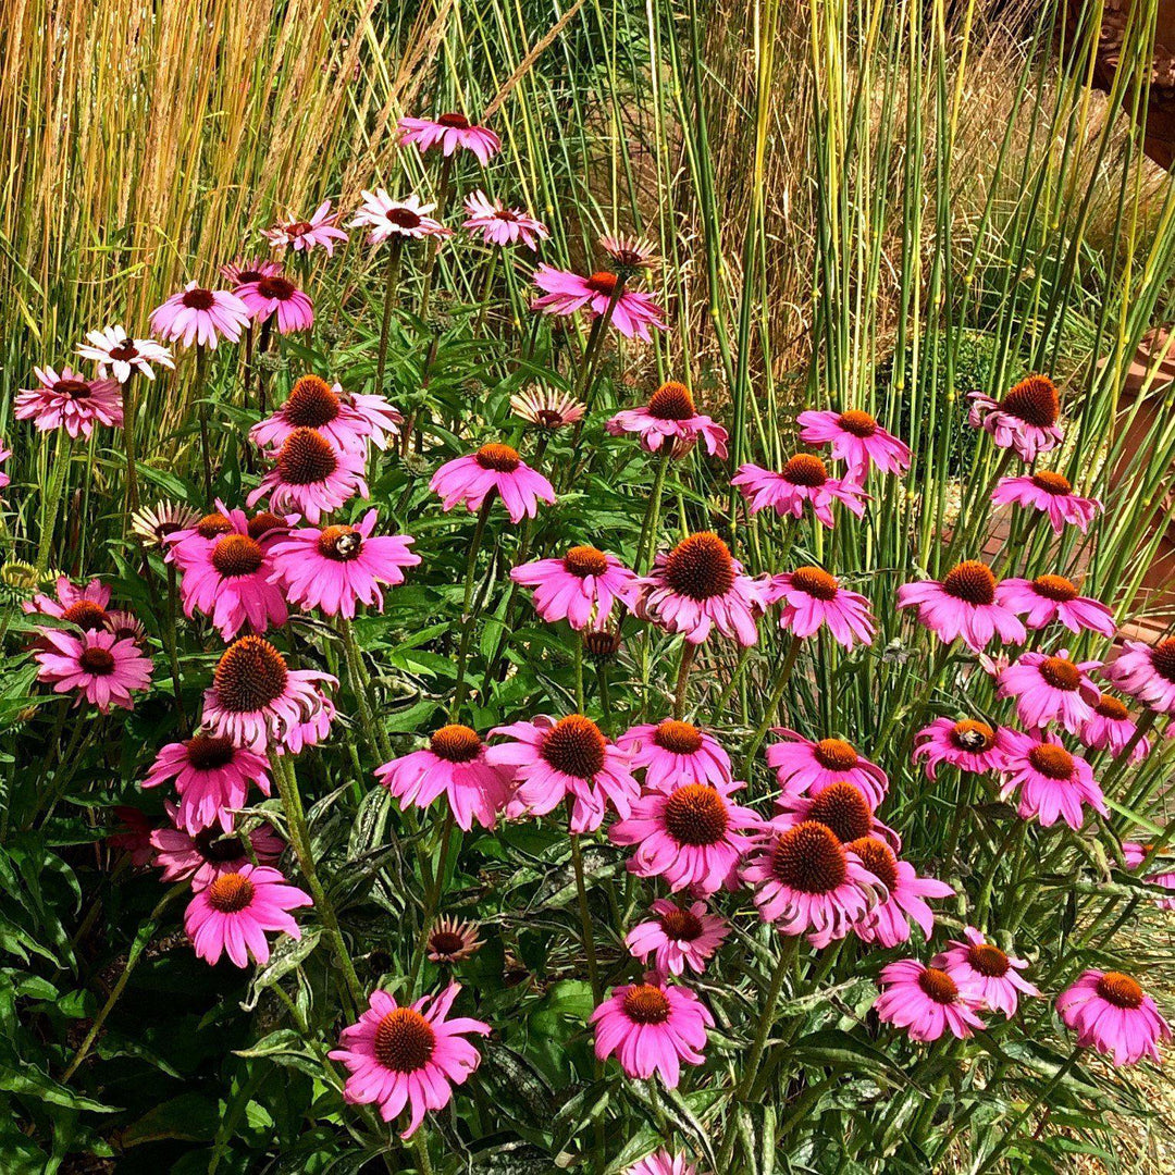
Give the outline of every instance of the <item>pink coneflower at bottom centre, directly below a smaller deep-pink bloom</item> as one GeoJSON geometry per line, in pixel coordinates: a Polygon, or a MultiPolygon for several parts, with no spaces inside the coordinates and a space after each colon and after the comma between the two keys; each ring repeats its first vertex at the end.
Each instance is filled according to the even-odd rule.
{"type": "Polygon", "coordinates": [[[649,1080],[660,1074],[676,1089],[682,1061],[701,1065],[706,1029],[713,1028],[710,1009],[689,988],[666,983],[650,973],[643,983],[613,987],[591,1014],[596,1026],[596,1058],[613,1053],[630,1077],[649,1080]]]}

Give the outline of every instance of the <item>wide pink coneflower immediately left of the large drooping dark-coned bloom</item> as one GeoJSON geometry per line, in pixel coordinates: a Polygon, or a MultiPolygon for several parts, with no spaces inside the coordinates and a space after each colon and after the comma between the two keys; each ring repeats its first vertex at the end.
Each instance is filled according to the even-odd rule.
{"type": "Polygon", "coordinates": [[[744,785],[683,784],[672,792],[645,788],[632,814],[609,828],[615,845],[636,845],[629,872],[665,879],[671,891],[705,895],[738,888],[738,864],[751,847],[745,830],[761,821],[731,803],[744,785]]]}

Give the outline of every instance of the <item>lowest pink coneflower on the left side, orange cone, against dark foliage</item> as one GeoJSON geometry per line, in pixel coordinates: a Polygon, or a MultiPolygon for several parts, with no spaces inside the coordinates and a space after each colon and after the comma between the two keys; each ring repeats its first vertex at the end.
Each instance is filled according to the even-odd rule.
{"type": "Polygon", "coordinates": [[[290,885],[268,865],[242,865],[236,873],[222,873],[192,899],[183,914],[183,928],[196,956],[209,964],[227,954],[237,967],[269,962],[267,931],[302,938],[289,911],[313,906],[308,893],[290,885]]]}

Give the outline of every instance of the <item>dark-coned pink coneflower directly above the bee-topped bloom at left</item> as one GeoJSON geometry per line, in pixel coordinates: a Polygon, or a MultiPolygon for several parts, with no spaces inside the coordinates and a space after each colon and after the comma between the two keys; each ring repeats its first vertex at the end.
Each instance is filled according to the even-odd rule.
{"type": "Polygon", "coordinates": [[[364,465],[362,452],[337,449],[315,429],[294,429],[274,455],[274,468],[244,501],[251,509],[268,496],[270,509],[296,510],[316,525],[356,494],[371,496],[364,465]]]}

